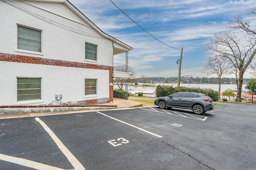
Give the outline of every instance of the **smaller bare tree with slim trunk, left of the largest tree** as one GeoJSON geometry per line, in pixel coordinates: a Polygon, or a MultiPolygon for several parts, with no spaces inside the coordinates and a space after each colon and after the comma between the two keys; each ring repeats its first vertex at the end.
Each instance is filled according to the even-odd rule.
{"type": "MultiPolygon", "coordinates": [[[[210,49],[209,53],[212,51],[210,49]]],[[[206,75],[212,75],[216,74],[218,76],[218,84],[219,84],[219,90],[218,90],[218,99],[220,99],[220,84],[221,84],[221,77],[223,74],[226,74],[230,71],[230,61],[227,57],[223,56],[212,56],[207,59],[207,63],[204,66],[204,74],[206,75]]]]}

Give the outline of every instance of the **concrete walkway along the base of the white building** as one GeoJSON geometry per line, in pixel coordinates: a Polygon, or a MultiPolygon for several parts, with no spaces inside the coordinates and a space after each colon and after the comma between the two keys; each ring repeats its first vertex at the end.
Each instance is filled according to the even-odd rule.
{"type": "Polygon", "coordinates": [[[12,119],[12,118],[22,118],[22,117],[40,117],[47,115],[62,115],[62,114],[71,114],[71,113],[81,113],[81,112],[91,112],[91,111],[105,111],[105,110],[116,110],[116,109],[128,109],[132,107],[140,107],[142,104],[138,102],[133,102],[131,100],[124,100],[114,98],[114,102],[99,104],[100,106],[113,106],[110,108],[98,107],[96,109],[79,109],[72,111],[51,111],[51,112],[37,112],[37,113],[20,113],[20,114],[5,114],[0,115],[0,119],[12,119]],[[100,109],[102,108],[102,109],[100,109]]]}

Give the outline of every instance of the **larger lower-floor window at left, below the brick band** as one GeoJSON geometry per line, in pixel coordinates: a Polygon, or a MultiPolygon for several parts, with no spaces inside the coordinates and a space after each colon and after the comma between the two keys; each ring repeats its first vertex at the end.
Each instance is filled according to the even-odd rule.
{"type": "Polygon", "coordinates": [[[41,100],[41,78],[17,78],[17,101],[41,100]]]}

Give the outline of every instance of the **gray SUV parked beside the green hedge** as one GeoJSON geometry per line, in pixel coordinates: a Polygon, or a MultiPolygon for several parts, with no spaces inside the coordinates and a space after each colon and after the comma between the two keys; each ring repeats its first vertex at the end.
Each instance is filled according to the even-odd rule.
{"type": "Polygon", "coordinates": [[[154,104],[160,109],[166,107],[192,109],[198,115],[214,109],[213,100],[207,94],[199,92],[177,92],[166,97],[156,98],[154,104]]]}

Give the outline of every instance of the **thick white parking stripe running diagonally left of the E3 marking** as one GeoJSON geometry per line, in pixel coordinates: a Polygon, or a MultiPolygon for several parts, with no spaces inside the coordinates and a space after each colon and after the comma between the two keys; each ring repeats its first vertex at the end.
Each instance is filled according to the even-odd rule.
{"type": "Polygon", "coordinates": [[[68,158],[70,164],[74,166],[76,170],[85,170],[84,166],[76,159],[76,157],[65,147],[65,145],[58,139],[58,137],[53,133],[53,131],[38,117],[35,118],[42,127],[44,127],[45,131],[52,137],[56,145],[62,151],[62,153],[68,158]]]}

